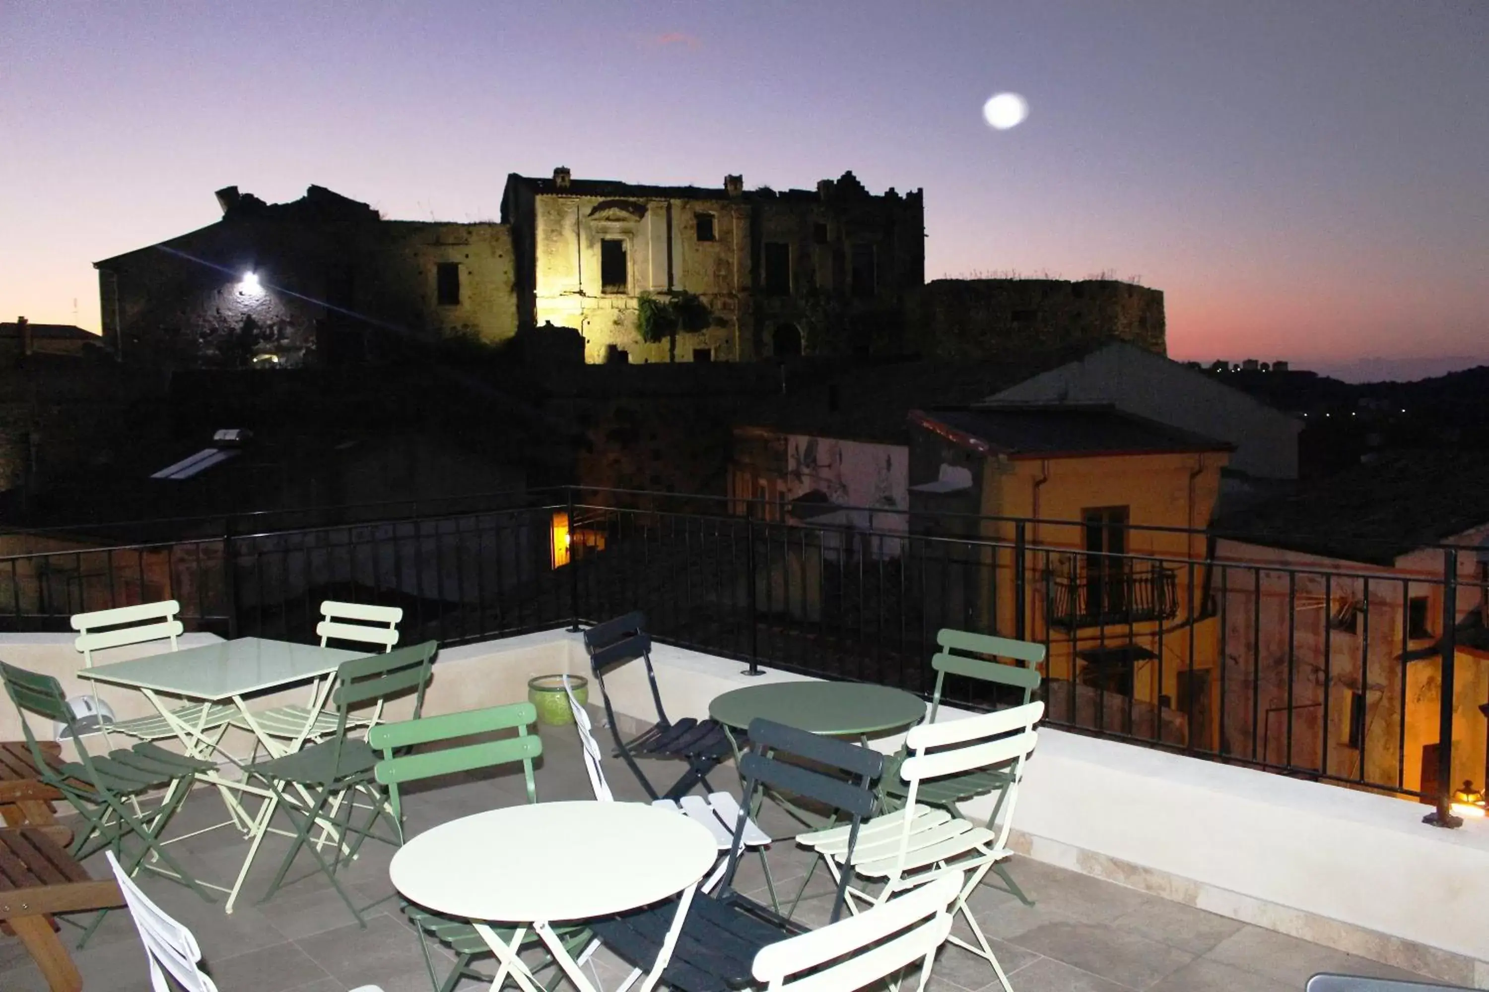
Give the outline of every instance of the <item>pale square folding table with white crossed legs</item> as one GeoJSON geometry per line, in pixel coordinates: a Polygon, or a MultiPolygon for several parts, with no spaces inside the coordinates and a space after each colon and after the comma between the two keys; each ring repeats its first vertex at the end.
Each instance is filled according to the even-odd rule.
{"type": "MultiPolygon", "coordinates": [[[[319,644],[293,644],[290,641],[244,637],[234,641],[191,647],[183,651],[162,651],[127,662],[85,668],[77,672],[77,677],[110,686],[125,686],[144,693],[144,698],[150,700],[150,705],[170,724],[180,739],[182,747],[192,757],[208,757],[210,751],[219,750],[217,742],[208,739],[205,735],[205,730],[210,727],[194,727],[183,723],[171,712],[177,703],[161,696],[208,703],[231,702],[243,714],[244,723],[249,724],[253,736],[258,738],[264,750],[271,757],[280,757],[299,750],[304,744],[311,726],[314,726],[316,714],[320,712],[326,700],[326,693],[331,689],[337,668],[342,662],[365,657],[365,651],[347,651],[335,647],[320,647],[319,644]],[[253,711],[249,708],[249,696],[307,681],[313,683],[307,706],[310,717],[301,733],[289,744],[264,733],[262,727],[253,718],[253,711]]],[[[208,709],[207,706],[203,708],[204,717],[208,709]]],[[[238,764],[235,759],[228,757],[234,764],[238,764]]],[[[272,802],[272,793],[267,788],[250,785],[247,781],[226,779],[216,770],[203,772],[198,775],[198,779],[217,787],[223,803],[228,806],[228,812],[232,815],[232,819],[228,822],[243,830],[253,842],[232,888],[203,882],[208,888],[228,892],[226,910],[231,913],[238,898],[238,889],[243,888],[243,879],[247,877],[249,867],[253,864],[253,855],[258,852],[259,840],[262,839],[262,830],[258,830],[256,834],[255,830],[268,827],[267,817],[264,815],[265,811],[261,811],[259,817],[250,817],[234,793],[253,793],[262,796],[267,803],[272,802]]],[[[205,830],[225,827],[228,822],[214,824],[205,830]]]]}

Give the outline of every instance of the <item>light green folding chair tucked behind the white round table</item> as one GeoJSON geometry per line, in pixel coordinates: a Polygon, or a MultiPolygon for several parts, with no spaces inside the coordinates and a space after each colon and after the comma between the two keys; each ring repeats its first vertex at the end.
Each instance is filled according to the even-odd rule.
{"type": "MultiPolygon", "coordinates": [[[[453,712],[442,717],[424,717],[423,720],[384,723],[372,727],[368,732],[368,741],[375,750],[383,753],[383,760],[377,763],[374,775],[378,782],[387,787],[399,845],[405,840],[401,787],[408,782],[417,782],[436,775],[454,775],[521,761],[523,779],[527,785],[527,802],[536,803],[538,784],[533,781],[533,759],[543,753],[542,738],[530,733],[536,718],[538,711],[533,705],[521,702],[508,706],[491,706],[490,709],[453,712]],[[393,756],[395,751],[404,748],[442,744],[457,738],[490,735],[500,730],[517,730],[517,735],[496,741],[482,739],[478,744],[445,747],[436,751],[421,748],[417,754],[405,754],[402,757],[393,756]]],[[[494,982],[496,976],[484,974],[471,965],[476,958],[491,955],[490,946],[476,933],[471,921],[435,913],[423,906],[406,901],[404,903],[404,915],[418,931],[418,947],[424,953],[424,967],[429,968],[429,980],[438,992],[451,992],[462,979],[475,979],[482,985],[494,982]],[[445,976],[444,982],[435,974],[435,962],[429,953],[430,938],[445,944],[456,955],[456,965],[445,976]]],[[[511,927],[494,930],[502,940],[511,944],[514,934],[511,927]]],[[[560,927],[557,933],[570,955],[587,944],[593,944],[593,937],[584,927],[560,927]]],[[[523,946],[536,946],[538,943],[538,934],[529,931],[523,946]]],[[[585,959],[587,955],[579,955],[579,964],[584,964],[585,959]]],[[[557,971],[546,988],[557,988],[563,979],[563,971],[557,971]]]]}

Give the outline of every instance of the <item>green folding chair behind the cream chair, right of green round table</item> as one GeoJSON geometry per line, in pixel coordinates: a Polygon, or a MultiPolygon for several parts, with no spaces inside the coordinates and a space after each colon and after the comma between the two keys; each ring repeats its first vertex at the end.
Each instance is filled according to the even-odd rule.
{"type": "MultiPolygon", "coordinates": [[[[1014,690],[1013,695],[1020,696],[1017,700],[1017,705],[1020,706],[1027,705],[1033,699],[1035,690],[1039,689],[1038,665],[1044,662],[1044,644],[1014,641],[1007,637],[992,637],[989,634],[972,634],[971,631],[953,631],[950,628],[937,631],[935,641],[941,650],[931,659],[931,666],[935,668],[935,692],[931,696],[931,714],[926,717],[926,723],[935,723],[937,711],[941,708],[941,690],[947,674],[962,675],[963,678],[975,678],[990,686],[1011,689],[1014,690]],[[1023,665],[989,662],[980,657],[966,657],[966,654],[1007,657],[1014,662],[1023,662],[1023,665]],[[1024,668],[1024,665],[1027,668],[1024,668]]],[[[905,802],[905,791],[908,785],[899,776],[898,770],[893,769],[898,769],[908,754],[910,753],[904,747],[899,748],[892,773],[884,775],[884,799],[887,808],[898,808],[905,802]]],[[[1001,766],[981,767],[966,772],[965,775],[948,775],[946,778],[929,779],[920,784],[920,794],[916,797],[916,802],[925,803],[926,806],[940,806],[957,819],[969,819],[969,817],[963,817],[962,811],[957,809],[957,803],[965,803],[977,799],[978,796],[998,793],[998,799],[993,803],[993,812],[989,814],[986,824],[986,828],[992,830],[998,815],[1004,811],[1004,802],[1008,799],[1008,790],[1014,784],[1013,770],[1014,763],[1007,761],[1001,766]]],[[[1020,903],[1024,906],[1033,906],[1033,900],[1030,900],[1018,883],[1013,880],[1008,875],[1008,867],[1002,861],[993,866],[993,872],[999,879],[1002,879],[1004,885],[1008,886],[1008,891],[1017,897],[1020,903]]]]}

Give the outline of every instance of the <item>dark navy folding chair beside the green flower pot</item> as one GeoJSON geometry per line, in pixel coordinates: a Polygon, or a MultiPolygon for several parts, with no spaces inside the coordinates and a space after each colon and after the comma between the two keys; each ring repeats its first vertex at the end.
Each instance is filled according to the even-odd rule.
{"type": "MultiPolygon", "coordinates": [[[[605,700],[605,718],[615,736],[615,754],[631,769],[636,781],[646,790],[646,796],[651,799],[680,799],[698,784],[713,793],[715,788],[709,784],[707,775],[733,753],[728,733],[718,720],[685,717],[673,723],[667,718],[667,711],[661,705],[661,693],[657,690],[657,672],[651,663],[651,635],[646,634],[646,616],[639,611],[627,613],[590,628],[584,632],[584,648],[590,653],[594,681],[599,683],[600,698],[605,700]],[[610,695],[605,689],[605,671],[636,659],[646,663],[646,681],[657,706],[657,723],[645,733],[622,741],[621,730],[615,723],[615,708],[610,706],[610,695]],[[637,754],[654,759],[680,759],[688,763],[688,770],[667,791],[658,793],[642,773],[640,766],[636,764],[634,756],[637,754]]],[[[740,748],[744,745],[746,742],[742,741],[740,748]]]]}

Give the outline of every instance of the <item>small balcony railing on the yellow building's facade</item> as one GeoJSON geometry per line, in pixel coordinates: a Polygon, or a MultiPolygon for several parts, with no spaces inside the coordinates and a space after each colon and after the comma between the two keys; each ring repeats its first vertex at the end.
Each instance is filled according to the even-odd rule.
{"type": "Polygon", "coordinates": [[[1172,620],[1179,614],[1179,571],[1166,565],[1135,570],[1123,558],[1072,556],[1065,574],[1047,573],[1050,623],[1097,628],[1172,620]]]}

